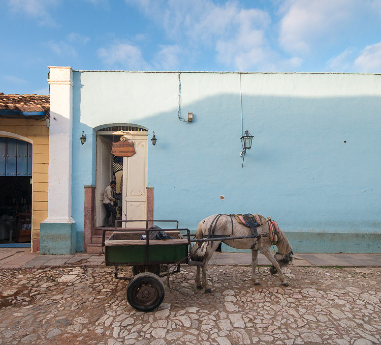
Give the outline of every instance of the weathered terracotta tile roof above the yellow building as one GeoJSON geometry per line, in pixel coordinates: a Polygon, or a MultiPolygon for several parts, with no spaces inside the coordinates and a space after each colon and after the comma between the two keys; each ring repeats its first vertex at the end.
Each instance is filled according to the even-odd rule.
{"type": "Polygon", "coordinates": [[[45,111],[50,108],[50,97],[44,95],[4,95],[0,92],[0,109],[45,111]]]}

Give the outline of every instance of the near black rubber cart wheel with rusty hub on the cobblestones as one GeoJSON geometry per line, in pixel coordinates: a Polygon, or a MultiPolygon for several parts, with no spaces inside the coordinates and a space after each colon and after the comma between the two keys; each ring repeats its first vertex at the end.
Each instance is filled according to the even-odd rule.
{"type": "Polygon", "coordinates": [[[127,300],[140,311],[151,311],[164,300],[164,284],[157,275],[144,272],[134,276],[127,286],[127,300]]]}

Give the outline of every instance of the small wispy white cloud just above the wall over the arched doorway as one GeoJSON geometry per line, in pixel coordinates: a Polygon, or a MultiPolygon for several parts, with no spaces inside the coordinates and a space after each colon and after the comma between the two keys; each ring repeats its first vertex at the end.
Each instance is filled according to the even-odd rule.
{"type": "Polygon", "coordinates": [[[121,66],[129,70],[151,70],[139,47],[127,43],[116,43],[100,48],[98,56],[107,66],[121,66]]]}

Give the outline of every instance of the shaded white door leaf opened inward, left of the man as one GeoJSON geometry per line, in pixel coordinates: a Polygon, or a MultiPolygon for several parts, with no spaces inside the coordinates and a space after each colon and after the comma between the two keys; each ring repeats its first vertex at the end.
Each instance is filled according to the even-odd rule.
{"type": "Polygon", "coordinates": [[[105,225],[106,210],[103,206],[103,193],[112,180],[112,142],[97,135],[97,171],[96,171],[96,216],[95,226],[105,225]]]}

